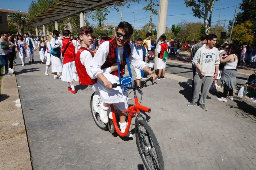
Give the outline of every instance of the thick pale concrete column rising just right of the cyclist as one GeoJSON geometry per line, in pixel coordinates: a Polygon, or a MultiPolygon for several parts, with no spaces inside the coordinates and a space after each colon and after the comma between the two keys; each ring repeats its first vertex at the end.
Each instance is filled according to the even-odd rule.
{"type": "MultiPolygon", "coordinates": [[[[160,0],[158,25],[157,25],[157,45],[156,45],[156,49],[158,48],[158,45],[160,44],[160,37],[162,35],[165,35],[167,7],[168,7],[168,0],[160,0]]],[[[155,52],[156,52],[155,56],[158,56],[157,51],[155,51],[155,52]]],[[[155,57],[154,70],[156,70],[156,68],[157,68],[157,62],[158,62],[158,58],[155,57]]]]}

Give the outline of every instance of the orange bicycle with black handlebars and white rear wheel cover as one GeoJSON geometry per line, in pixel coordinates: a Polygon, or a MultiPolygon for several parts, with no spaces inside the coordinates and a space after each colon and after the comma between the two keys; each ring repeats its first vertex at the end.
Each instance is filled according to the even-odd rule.
{"type": "Polygon", "coordinates": [[[163,156],[162,156],[162,152],[158,144],[157,138],[153,130],[151,129],[151,127],[148,125],[148,123],[145,121],[145,118],[141,114],[141,111],[150,113],[151,108],[140,105],[138,101],[138,97],[136,95],[136,90],[143,87],[147,87],[146,83],[148,81],[151,81],[150,85],[157,84],[153,82],[152,77],[144,81],[140,86],[127,87],[127,86],[124,86],[123,84],[117,84],[117,83],[112,84],[113,88],[117,86],[124,86],[128,89],[132,89],[134,92],[135,105],[129,106],[128,110],[122,111],[122,113],[128,113],[127,126],[124,133],[121,132],[119,125],[117,123],[116,111],[113,104],[110,105],[111,110],[109,111],[110,113],[109,122],[107,123],[107,125],[100,120],[99,113],[98,113],[98,108],[101,105],[99,92],[93,93],[91,97],[91,111],[92,111],[93,119],[98,127],[100,127],[103,130],[107,129],[108,127],[108,130],[111,133],[116,132],[119,136],[122,136],[122,137],[126,136],[129,133],[131,120],[133,117],[135,117],[136,144],[137,144],[141,159],[145,164],[145,167],[147,169],[164,169],[163,156]]]}

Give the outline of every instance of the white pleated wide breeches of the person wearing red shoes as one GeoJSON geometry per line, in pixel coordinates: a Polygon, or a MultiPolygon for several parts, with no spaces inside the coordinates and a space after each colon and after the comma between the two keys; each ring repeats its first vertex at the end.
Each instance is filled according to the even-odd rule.
{"type": "Polygon", "coordinates": [[[61,80],[65,82],[79,81],[75,62],[63,64],[61,80]]]}

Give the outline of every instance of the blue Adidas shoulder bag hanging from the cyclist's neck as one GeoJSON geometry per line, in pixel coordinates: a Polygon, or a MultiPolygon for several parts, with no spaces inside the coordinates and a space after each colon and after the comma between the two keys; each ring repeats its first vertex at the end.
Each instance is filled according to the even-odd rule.
{"type": "MultiPolygon", "coordinates": [[[[127,64],[127,67],[128,67],[129,76],[125,76],[125,77],[121,78],[121,75],[120,75],[120,63],[119,63],[119,60],[118,60],[118,49],[116,49],[116,57],[117,57],[116,61],[117,61],[117,66],[118,66],[119,83],[123,84],[125,86],[133,87],[131,67],[130,67],[130,62],[129,62],[126,46],[124,46],[124,53],[125,53],[125,60],[126,60],[126,64],[127,64]]],[[[128,92],[128,91],[131,90],[131,89],[127,89],[127,88],[122,87],[122,86],[121,86],[121,89],[122,89],[123,92],[128,92]]]]}

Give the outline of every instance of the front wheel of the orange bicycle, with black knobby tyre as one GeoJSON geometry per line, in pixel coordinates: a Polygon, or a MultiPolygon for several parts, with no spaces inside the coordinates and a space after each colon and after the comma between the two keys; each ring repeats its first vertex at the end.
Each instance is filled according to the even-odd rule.
{"type": "Polygon", "coordinates": [[[149,169],[164,169],[163,156],[157,138],[144,120],[136,120],[136,144],[145,167],[149,169]]]}

